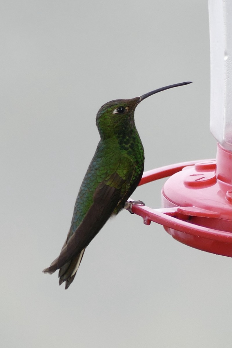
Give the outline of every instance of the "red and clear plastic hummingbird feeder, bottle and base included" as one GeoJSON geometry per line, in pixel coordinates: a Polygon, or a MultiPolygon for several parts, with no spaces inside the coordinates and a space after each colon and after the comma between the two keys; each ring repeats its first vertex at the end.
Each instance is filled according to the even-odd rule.
{"type": "Polygon", "coordinates": [[[232,5],[209,0],[210,131],[216,160],[168,165],[143,173],[139,185],[169,177],[162,208],[132,205],[132,212],[163,225],[179,242],[232,257],[232,5]]]}

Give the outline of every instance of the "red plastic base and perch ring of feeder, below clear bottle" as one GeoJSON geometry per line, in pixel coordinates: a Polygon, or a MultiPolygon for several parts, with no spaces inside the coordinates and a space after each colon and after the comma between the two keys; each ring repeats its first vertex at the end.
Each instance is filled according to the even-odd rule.
{"type": "Polygon", "coordinates": [[[181,243],[232,257],[232,153],[218,144],[216,161],[153,169],[143,174],[140,185],[170,175],[162,189],[162,209],[133,205],[132,212],[145,224],[162,224],[181,243]]]}

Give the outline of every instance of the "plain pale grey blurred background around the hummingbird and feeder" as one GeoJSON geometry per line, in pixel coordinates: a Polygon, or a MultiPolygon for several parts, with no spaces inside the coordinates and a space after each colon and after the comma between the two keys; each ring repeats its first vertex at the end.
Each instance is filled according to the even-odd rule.
{"type": "MultiPolygon", "coordinates": [[[[121,212],[70,286],[42,274],[66,238],[115,98],[193,81],[135,113],[145,170],[214,158],[207,1],[1,1],[2,347],[231,347],[231,259],[121,212]]],[[[134,199],[160,207],[163,182],[134,199]]]]}

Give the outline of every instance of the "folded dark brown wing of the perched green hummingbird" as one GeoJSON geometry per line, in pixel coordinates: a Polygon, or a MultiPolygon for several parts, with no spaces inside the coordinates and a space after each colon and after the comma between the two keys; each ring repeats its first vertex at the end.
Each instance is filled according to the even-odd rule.
{"type": "Polygon", "coordinates": [[[126,181],[117,173],[101,182],[95,193],[94,202],[77,230],[62,248],[60,255],[44,273],[53,273],[77,256],[97,235],[124,196],[126,181]],[[123,192],[123,194],[122,194],[123,192]]]}

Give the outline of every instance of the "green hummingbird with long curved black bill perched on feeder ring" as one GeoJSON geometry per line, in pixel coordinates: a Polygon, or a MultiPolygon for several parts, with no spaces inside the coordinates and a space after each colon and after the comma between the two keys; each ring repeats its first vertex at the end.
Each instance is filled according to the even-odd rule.
{"type": "Polygon", "coordinates": [[[100,141],[82,181],[69,233],[59,256],[43,270],[52,274],[59,269],[59,285],[65,282],[65,289],[73,282],[86,247],[106,221],[123,208],[131,212],[132,204],[143,204],[127,202],[144,169],[143,144],[134,120],[136,106],[153,94],[190,83],[158,88],[132,99],[112,100],[99,109],[96,125],[100,141]]]}

